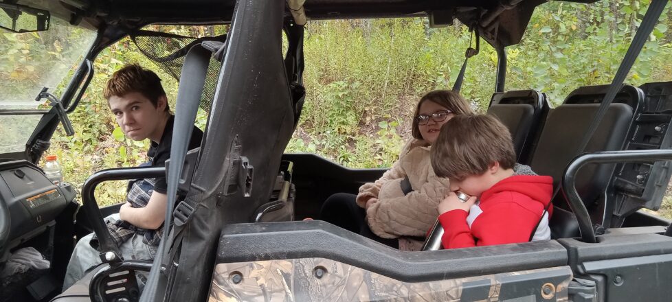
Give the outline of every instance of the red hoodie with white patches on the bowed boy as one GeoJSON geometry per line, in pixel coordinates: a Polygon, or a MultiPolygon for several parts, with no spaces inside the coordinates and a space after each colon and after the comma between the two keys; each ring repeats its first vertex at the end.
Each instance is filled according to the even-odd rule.
{"type": "MultiPolygon", "coordinates": [[[[456,209],[438,216],[445,233],[443,248],[466,248],[528,242],[544,207],[553,194],[550,176],[519,175],[504,178],[481,194],[469,212],[456,209]],[[469,227],[471,222],[471,227],[469,227]]],[[[548,216],[539,224],[535,240],[550,239],[548,216]]]]}

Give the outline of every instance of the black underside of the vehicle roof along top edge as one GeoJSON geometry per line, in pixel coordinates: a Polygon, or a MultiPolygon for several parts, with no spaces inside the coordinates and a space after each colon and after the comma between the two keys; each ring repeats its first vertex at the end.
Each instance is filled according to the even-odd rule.
{"type": "MultiPolygon", "coordinates": [[[[473,25],[478,19],[483,22],[495,14],[493,22],[479,26],[480,33],[492,45],[508,46],[519,43],[534,9],[545,2],[545,0],[305,0],[303,8],[309,20],[434,15],[434,19],[443,20],[444,23],[455,18],[464,24],[473,25]],[[497,14],[500,11],[501,14],[497,14]]],[[[236,1],[20,0],[19,4],[49,10],[53,15],[85,27],[128,29],[150,23],[228,23],[231,21],[236,1]]],[[[287,10],[287,16],[290,15],[287,10]]]]}

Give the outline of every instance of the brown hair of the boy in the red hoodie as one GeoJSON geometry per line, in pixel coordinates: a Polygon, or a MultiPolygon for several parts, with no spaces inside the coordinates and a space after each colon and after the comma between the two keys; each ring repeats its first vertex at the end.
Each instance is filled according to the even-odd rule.
{"type": "Polygon", "coordinates": [[[504,169],[515,165],[511,133],[492,115],[456,115],[441,127],[430,154],[437,176],[458,181],[495,162],[504,169]]]}

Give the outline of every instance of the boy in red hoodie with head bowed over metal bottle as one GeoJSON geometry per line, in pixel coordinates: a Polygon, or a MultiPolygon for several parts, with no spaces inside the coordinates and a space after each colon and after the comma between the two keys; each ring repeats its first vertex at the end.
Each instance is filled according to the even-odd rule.
{"type": "Polygon", "coordinates": [[[496,117],[453,117],[431,156],[436,175],[450,179],[438,205],[443,248],[528,242],[535,227],[533,241],[550,239],[553,179],[513,172],[511,134],[496,117]]]}

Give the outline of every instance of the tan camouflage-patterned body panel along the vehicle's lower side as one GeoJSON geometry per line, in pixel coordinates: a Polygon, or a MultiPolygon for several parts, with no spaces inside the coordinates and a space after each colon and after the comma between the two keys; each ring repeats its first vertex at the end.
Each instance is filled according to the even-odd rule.
{"type": "Polygon", "coordinates": [[[284,259],[217,264],[209,301],[568,301],[571,279],[560,266],[403,282],[330,259],[284,259]]]}

